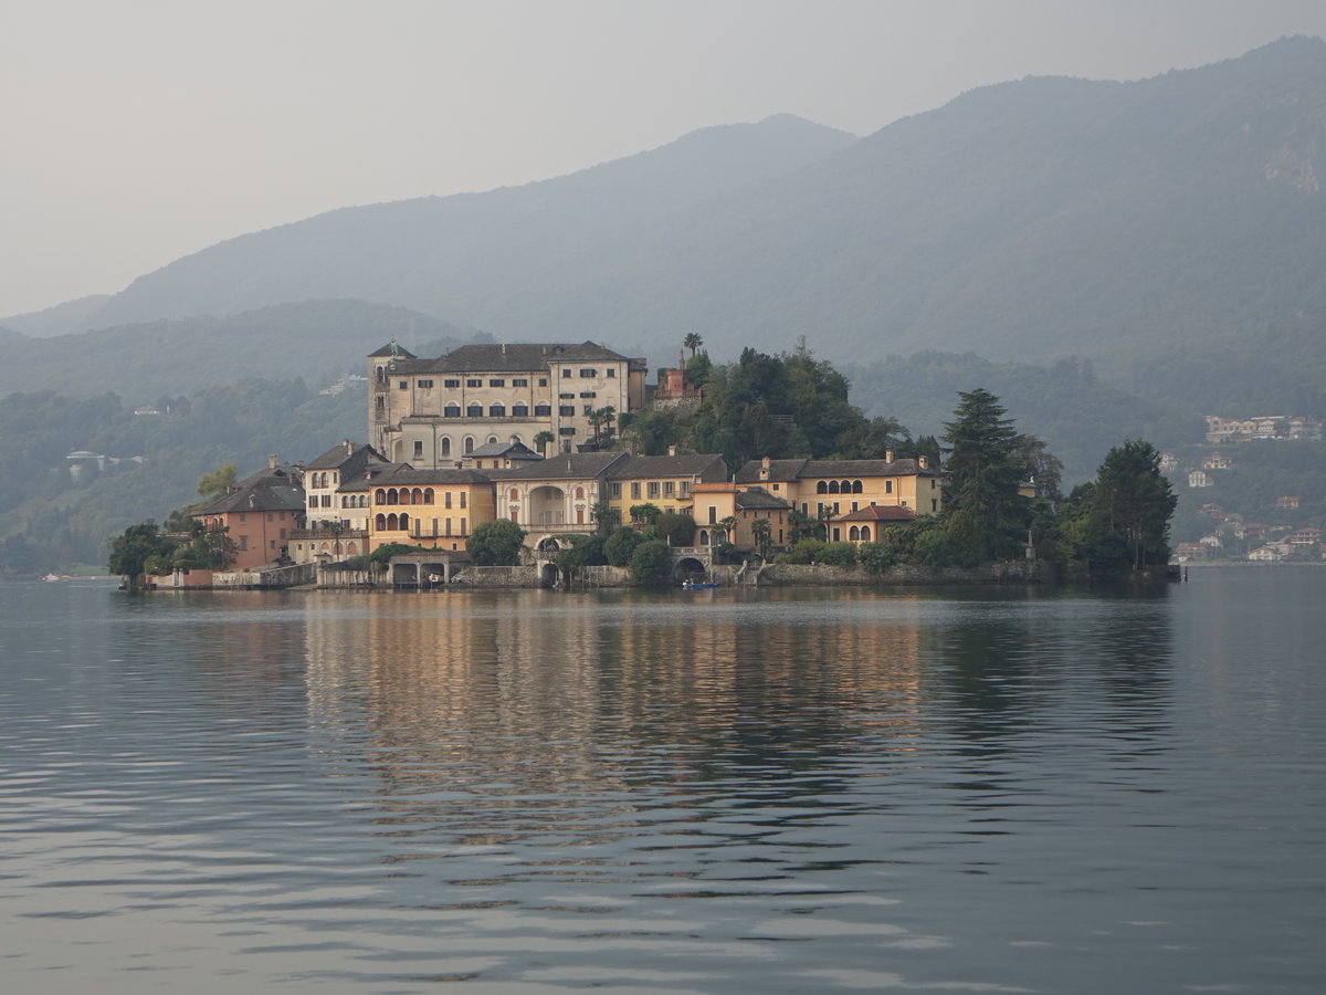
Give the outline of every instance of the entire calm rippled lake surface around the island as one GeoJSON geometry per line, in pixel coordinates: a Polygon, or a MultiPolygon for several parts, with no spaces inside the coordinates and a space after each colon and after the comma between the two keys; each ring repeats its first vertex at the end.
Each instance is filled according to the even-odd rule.
{"type": "Polygon", "coordinates": [[[5,991],[1326,991],[1326,569],[0,612],[5,991]]]}

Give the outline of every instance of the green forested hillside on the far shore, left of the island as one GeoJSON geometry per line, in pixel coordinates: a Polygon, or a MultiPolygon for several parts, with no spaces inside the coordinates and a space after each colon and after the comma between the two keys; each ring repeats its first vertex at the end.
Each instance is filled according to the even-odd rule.
{"type": "Polygon", "coordinates": [[[103,564],[106,537],[145,517],[158,521],[196,500],[198,478],[225,463],[241,474],[313,459],[339,439],[361,439],[363,390],[317,394],[302,381],[243,381],[199,391],[180,415],[134,415],[114,394],[53,391],[0,399],[0,573],[103,564]],[[68,454],[117,458],[103,470],[68,454]],[[142,463],[134,456],[145,458],[142,463]]]}

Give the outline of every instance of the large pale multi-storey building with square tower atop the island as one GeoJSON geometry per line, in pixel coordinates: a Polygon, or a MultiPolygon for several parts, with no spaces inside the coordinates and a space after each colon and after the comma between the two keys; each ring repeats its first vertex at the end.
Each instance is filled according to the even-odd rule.
{"type": "Polygon", "coordinates": [[[594,342],[467,345],[436,360],[390,344],[369,357],[369,444],[418,468],[480,446],[534,447],[541,432],[545,452],[575,452],[594,444],[595,411],[643,407],[646,371],[594,342]]]}

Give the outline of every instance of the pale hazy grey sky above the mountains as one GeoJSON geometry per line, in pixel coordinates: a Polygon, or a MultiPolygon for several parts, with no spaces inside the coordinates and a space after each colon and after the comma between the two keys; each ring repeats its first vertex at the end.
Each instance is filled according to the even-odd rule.
{"type": "Polygon", "coordinates": [[[1326,0],[0,0],[0,316],[707,125],[869,134],[973,86],[1294,33],[1326,36],[1326,0]]]}

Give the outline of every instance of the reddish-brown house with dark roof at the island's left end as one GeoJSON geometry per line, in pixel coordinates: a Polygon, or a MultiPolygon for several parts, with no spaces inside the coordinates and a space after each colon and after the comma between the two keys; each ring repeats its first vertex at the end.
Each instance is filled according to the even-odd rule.
{"type": "Polygon", "coordinates": [[[194,512],[207,531],[229,531],[236,547],[229,569],[247,570],[289,556],[290,535],[304,524],[301,474],[298,467],[278,466],[271,456],[265,470],[194,512]]]}

